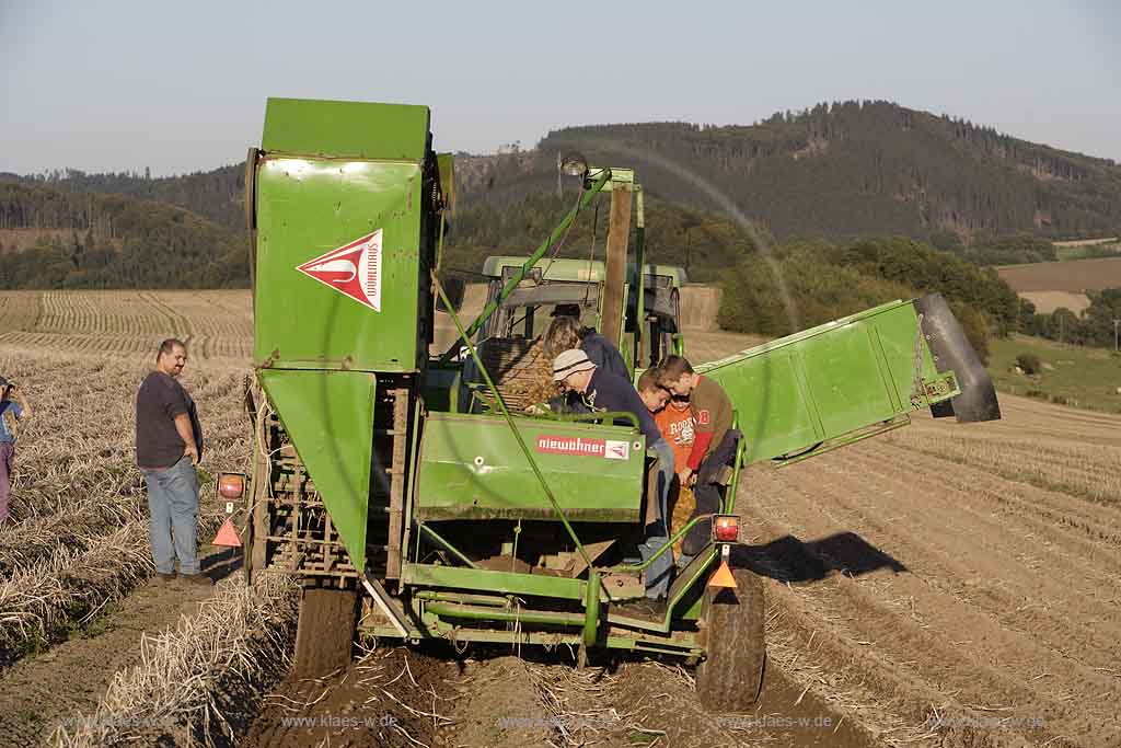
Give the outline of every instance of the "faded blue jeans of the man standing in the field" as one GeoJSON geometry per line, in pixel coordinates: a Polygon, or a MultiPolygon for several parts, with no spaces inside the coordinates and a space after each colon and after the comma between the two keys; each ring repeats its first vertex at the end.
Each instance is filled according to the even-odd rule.
{"type": "Polygon", "coordinates": [[[170,468],[141,468],[140,472],[148,483],[148,510],[151,514],[148,534],[156,571],[160,574],[173,573],[178,556],[180,574],[197,574],[198,473],[191,458],[183,455],[170,468]]]}

